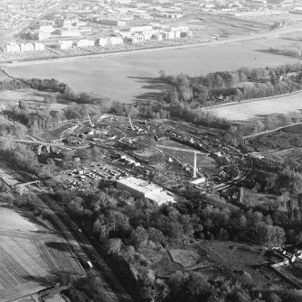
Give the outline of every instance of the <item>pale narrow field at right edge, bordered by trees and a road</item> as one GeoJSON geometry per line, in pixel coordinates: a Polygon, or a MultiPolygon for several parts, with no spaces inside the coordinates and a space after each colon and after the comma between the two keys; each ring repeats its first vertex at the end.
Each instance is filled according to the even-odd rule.
{"type": "Polygon", "coordinates": [[[265,100],[222,105],[207,109],[231,121],[246,122],[269,114],[290,114],[302,109],[302,93],[291,96],[275,97],[265,100]]]}

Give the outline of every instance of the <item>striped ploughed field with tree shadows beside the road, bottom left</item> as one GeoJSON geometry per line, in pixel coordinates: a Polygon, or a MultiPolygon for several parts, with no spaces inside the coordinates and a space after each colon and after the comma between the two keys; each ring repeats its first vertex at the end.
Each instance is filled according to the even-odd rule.
{"type": "Polygon", "coordinates": [[[62,271],[84,272],[68,243],[32,215],[0,207],[0,301],[50,286],[62,271]]]}

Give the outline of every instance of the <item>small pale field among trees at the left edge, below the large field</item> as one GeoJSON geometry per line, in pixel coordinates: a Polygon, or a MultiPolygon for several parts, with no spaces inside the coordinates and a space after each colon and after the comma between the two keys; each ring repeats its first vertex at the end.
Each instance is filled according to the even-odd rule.
{"type": "Polygon", "coordinates": [[[60,94],[52,94],[50,92],[49,93],[40,92],[30,88],[0,91],[0,105],[5,105],[7,107],[10,107],[10,106],[18,105],[19,101],[24,101],[29,106],[29,108],[33,110],[36,109],[37,107],[41,109],[60,110],[66,106],[66,104],[60,103],[61,102],[60,94]],[[57,96],[58,103],[52,103],[52,104],[44,103],[43,102],[44,97],[47,95],[57,96]]]}

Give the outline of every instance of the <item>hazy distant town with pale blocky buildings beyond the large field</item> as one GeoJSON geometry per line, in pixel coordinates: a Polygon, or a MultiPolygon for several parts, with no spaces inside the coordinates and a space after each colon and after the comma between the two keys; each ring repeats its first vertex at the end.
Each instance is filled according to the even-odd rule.
{"type": "Polygon", "coordinates": [[[267,0],[5,2],[0,5],[0,26],[16,32],[2,45],[0,62],[225,42],[229,38],[225,34],[201,36],[189,19],[198,13],[244,18],[302,14],[302,7],[295,0],[276,4],[267,0]]]}

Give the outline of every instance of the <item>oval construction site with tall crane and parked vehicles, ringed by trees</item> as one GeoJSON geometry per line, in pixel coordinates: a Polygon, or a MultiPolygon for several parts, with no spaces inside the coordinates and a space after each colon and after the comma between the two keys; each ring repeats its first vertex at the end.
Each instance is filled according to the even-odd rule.
{"type": "MultiPolygon", "coordinates": [[[[250,157],[216,134],[175,122],[88,115],[65,121],[55,135],[45,132],[16,142],[33,146],[43,162],[52,159],[57,167],[52,178],[65,190],[96,188],[99,182],[118,187],[123,182],[132,193],[139,191],[137,186],[145,187],[145,196],[152,184],[159,196],[151,199],[160,205],[175,202],[177,196],[229,188],[251,169],[250,157]],[[52,141],[45,139],[49,136],[52,141]]],[[[14,184],[14,189],[22,194],[27,185],[42,185],[33,180],[14,184]]]]}

